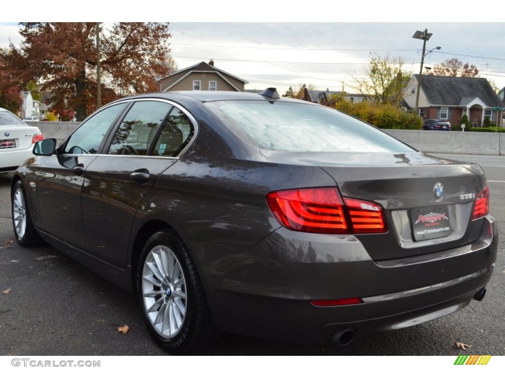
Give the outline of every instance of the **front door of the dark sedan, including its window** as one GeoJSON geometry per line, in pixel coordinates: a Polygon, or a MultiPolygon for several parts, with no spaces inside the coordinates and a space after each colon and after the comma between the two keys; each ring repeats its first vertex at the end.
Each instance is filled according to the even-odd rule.
{"type": "Polygon", "coordinates": [[[108,130],[127,103],[109,106],[85,120],[35,171],[40,229],[79,249],[84,248],[81,188],[84,171],[96,159],[108,130]]]}

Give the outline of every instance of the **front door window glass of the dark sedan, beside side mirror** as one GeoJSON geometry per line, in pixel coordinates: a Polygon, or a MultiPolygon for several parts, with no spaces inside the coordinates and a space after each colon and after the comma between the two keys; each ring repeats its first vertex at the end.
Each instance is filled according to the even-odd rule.
{"type": "Polygon", "coordinates": [[[65,146],[65,153],[96,154],[104,137],[107,137],[107,131],[126,105],[124,102],[109,106],[88,118],[71,135],[65,146]]]}

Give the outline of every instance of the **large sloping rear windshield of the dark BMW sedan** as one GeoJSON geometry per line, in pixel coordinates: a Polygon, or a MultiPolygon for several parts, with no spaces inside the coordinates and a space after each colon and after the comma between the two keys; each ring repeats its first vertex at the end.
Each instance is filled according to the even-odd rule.
{"type": "Polygon", "coordinates": [[[412,152],[371,125],[335,109],[275,101],[215,101],[206,105],[260,148],[305,152],[412,152]]]}

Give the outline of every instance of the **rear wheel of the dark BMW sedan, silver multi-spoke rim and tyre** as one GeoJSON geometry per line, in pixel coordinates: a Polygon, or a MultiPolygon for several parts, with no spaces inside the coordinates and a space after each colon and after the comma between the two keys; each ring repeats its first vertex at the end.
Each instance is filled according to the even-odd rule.
{"type": "Polygon", "coordinates": [[[137,288],[149,333],[169,352],[188,353],[216,339],[195,264],[173,232],[160,231],[147,239],[137,288]]]}

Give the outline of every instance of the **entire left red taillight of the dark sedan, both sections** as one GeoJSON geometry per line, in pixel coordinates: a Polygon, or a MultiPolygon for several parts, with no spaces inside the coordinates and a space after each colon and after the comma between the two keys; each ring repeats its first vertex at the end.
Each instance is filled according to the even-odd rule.
{"type": "Polygon", "coordinates": [[[267,203],[279,223],[290,230],[326,234],[387,231],[380,205],[342,199],[336,187],[272,192],[267,203]]]}

